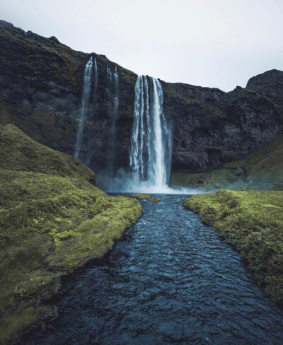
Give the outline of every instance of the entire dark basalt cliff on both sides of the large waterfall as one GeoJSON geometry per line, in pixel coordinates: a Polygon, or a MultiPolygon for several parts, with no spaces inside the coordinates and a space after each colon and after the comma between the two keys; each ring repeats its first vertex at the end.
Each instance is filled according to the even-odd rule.
{"type": "MultiPolygon", "coordinates": [[[[129,164],[137,75],[104,55],[76,52],[55,37],[45,38],[0,21],[0,115],[42,144],[74,153],[83,71],[92,55],[98,86],[91,88],[83,131],[82,158],[96,172],[105,168],[114,90],[107,65],[120,77],[115,169],[129,164]],[[107,91],[108,89],[108,91],[107,91]]],[[[173,170],[197,172],[227,163],[283,132],[283,72],[267,71],[224,93],[161,81],[164,113],[173,128],[173,170]]]]}

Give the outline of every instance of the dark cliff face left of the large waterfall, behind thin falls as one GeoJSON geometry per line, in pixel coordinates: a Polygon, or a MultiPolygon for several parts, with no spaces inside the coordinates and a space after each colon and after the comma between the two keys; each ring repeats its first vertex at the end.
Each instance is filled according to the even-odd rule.
{"type": "Polygon", "coordinates": [[[92,156],[98,168],[103,167],[108,151],[112,111],[113,90],[106,69],[109,65],[113,72],[117,66],[121,92],[116,148],[120,163],[127,165],[136,74],[103,55],[76,52],[55,37],[25,33],[3,21],[0,51],[1,120],[16,124],[36,141],[69,154],[74,154],[84,68],[91,55],[96,57],[98,85],[96,93],[91,88],[81,158],[92,156]]]}

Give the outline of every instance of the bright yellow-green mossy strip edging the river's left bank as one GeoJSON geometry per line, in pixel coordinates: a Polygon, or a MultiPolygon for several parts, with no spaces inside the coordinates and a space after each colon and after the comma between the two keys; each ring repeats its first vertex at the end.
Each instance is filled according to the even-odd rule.
{"type": "Polygon", "coordinates": [[[72,230],[58,232],[55,250],[47,258],[47,263],[52,267],[69,268],[104,255],[125,228],[137,221],[141,206],[133,201],[126,197],[96,199],[92,207],[99,213],[72,230]]]}

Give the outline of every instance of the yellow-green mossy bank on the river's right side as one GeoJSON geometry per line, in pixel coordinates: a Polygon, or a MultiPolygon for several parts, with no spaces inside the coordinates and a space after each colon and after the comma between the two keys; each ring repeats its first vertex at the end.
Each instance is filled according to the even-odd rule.
{"type": "Polygon", "coordinates": [[[270,298],[283,303],[283,192],[223,190],[193,195],[183,205],[219,230],[270,298]]]}

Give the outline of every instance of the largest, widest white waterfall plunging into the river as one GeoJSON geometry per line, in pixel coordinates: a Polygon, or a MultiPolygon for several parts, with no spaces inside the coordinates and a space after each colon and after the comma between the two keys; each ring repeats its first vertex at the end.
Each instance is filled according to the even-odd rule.
{"type": "Polygon", "coordinates": [[[171,170],[171,129],[163,114],[163,91],[156,78],[138,76],[129,165],[132,184],[161,192],[171,170]]]}

